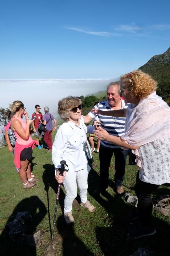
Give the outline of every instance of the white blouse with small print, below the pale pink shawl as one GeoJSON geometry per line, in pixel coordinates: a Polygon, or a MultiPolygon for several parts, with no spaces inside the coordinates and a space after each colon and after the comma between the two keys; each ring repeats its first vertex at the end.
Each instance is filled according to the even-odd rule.
{"type": "Polygon", "coordinates": [[[170,183],[170,137],[154,140],[138,148],[141,181],[162,185],[170,183]]]}

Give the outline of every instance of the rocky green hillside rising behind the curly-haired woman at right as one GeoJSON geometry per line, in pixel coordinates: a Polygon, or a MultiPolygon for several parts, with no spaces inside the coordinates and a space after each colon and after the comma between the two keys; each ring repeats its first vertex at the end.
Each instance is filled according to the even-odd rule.
{"type": "Polygon", "coordinates": [[[170,48],[163,54],[153,56],[139,69],[158,82],[156,93],[170,105],[170,48]]]}

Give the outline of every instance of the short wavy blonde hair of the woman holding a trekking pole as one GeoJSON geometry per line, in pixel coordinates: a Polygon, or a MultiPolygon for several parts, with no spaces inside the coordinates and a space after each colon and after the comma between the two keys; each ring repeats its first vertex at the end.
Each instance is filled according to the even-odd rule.
{"type": "Polygon", "coordinates": [[[58,114],[64,121],[69,121],[70,110],[82,104],[79,97],[68,96],[58,102],[58,114]]]}

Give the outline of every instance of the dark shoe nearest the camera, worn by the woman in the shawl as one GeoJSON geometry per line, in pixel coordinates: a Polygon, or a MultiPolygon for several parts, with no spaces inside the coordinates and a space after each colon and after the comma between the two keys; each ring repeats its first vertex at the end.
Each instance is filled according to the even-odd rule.
{"type": "Polygon", "coordinates": [[[138,224],[129,230],[128,236],[137,239],[140,237],[152,236],[154,234],[156,234],[156,230],[153,227],[143,227],[138,224]]]}

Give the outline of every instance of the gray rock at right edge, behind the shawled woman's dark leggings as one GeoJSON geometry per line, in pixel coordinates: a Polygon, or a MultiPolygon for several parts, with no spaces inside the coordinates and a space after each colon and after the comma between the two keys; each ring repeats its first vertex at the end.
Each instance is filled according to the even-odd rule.
{"type": "Polygon", "coordinates": [[[170,195],[162,195],[153,208],[161,214],[170,217],[170,195]]]}

